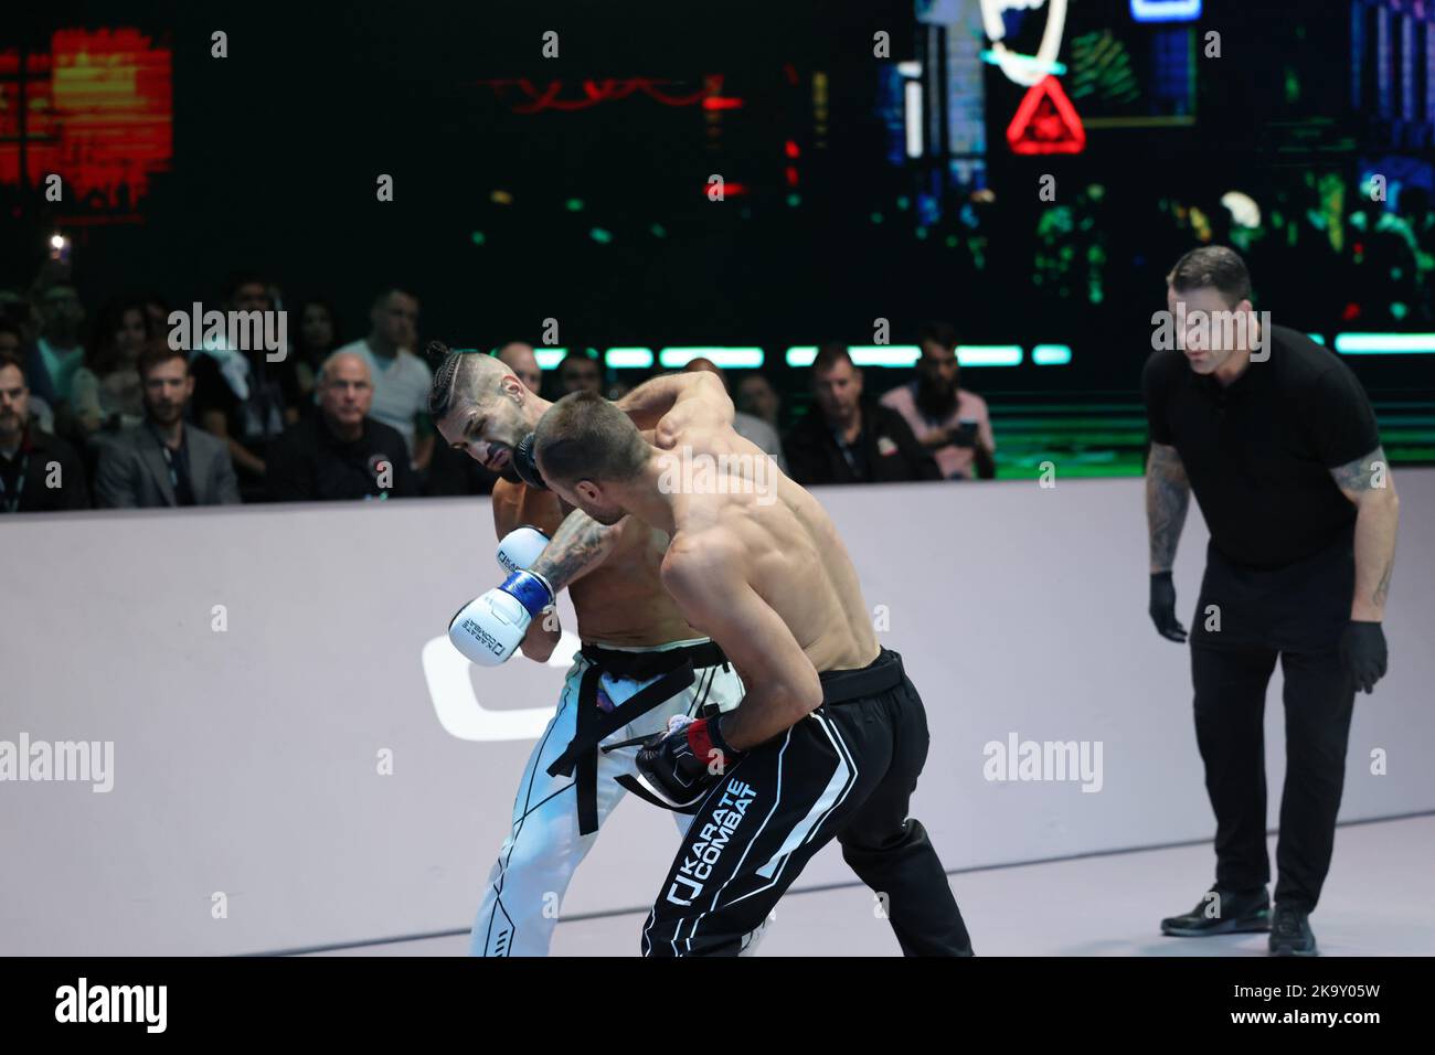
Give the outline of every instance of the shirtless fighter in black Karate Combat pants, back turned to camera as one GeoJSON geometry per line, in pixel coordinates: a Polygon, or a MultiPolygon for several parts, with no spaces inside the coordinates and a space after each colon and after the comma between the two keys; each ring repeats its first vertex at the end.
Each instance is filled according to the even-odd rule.
{"type": "Polygon", "coordinates": [[[603,524],[631,514],[670,535],[663,586],[748,689],[720,718],[670,719],[639,754],[640,779],[624,781],[696,814],[643,929],[643,953],[739,952],[837,838],[885,899],[905,955],[970,955],[937,851],[907,817],[927,758],[921,699],[901,657],[877,644],[827,512],[775,466],[756,469],[765,455],[733,432],[732,418],[713,375],[684,373],[618,403],[573,393],[537,429],[538,469],[564,501],[603,524]],[[651,442],[640,428],[654,428],[651,442]],[[705,456],[728,461],[716,474],[683,471],[683,459],[705,456]]]}

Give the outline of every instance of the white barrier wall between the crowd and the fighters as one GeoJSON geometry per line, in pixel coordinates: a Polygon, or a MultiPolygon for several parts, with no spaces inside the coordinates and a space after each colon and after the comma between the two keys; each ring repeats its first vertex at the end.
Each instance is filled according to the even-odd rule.
{"type": "MultiPolygon", "coordinates": [[[[1391,673],[1356,705],[1346,820],[1435,808],[1435,471],[1398,481],[1391,673]]],[[[1211,835],[1188,653],[1145,611],[1141,487],[818,492],[926,699],[913,812],[949,868],[1211,835]],[[1099,744],[1099,789],[986,779],[984,745],[1013,736],[1099,744]]],[[[1204,544],[1192,507],[1182,617],[1204,544]]],[[[264,952],[468,926],[563,676],[522,659],[481,672],[430,643],[499,580],[494,545],[486,500],[0,521],[0,749],[113,744],[109,791],[0,781],[0,953],[264,952]]],[[[1277,673],[1271,825],[1280,718],[1277,673]]],[[[607,834],[565,911],[656,893],[672,820],[630,801],[607,834]]],[[[851,880],[828,847],[796,886],[851,880]]]]}

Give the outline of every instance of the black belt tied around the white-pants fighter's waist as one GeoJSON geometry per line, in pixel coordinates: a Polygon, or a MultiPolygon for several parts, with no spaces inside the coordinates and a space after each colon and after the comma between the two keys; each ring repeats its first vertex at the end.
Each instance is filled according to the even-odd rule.
{"type": "Polygon", "coordinates": [[[578,683],[577,732],[548,766],[548,775],[571,777],[577,769],[578,834],[588,835],[598,830],[598,744],[687,689],[696,680],[695,669],[726,666],[728,657],[716,642],[662,652],[621,652],[584,644],[581,655],[588,660],[588,669],[578,683]],[[657,680],[604,712],[598,706],[598,683],[604,673],[640,682],[649,677],[657,680]]]}

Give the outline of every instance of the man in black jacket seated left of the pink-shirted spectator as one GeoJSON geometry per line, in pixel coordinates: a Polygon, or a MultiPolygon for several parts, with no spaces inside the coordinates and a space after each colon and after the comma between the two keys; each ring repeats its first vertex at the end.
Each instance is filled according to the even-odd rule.
{"type": "Polygon", "coordinates": [[[862,402],[862,372],[842,344],[824,344],[817,353],[812,396],[815,408],[785,444],[788,475],[798,484],[941,479],[900,413],[862,402]]]}

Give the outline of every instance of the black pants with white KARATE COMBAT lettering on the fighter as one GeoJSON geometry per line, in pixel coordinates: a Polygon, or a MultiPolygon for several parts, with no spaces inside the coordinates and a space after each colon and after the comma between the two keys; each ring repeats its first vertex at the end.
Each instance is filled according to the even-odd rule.
{"type": "Polygon", "coordinates": [[[832,838],[907,956],[970,956],[927,831],[907,817],[927,715],[888,650],[821,675],[824,703],[753,748],[703,800],[643,927],[644,956],[733,956],[832,838]]]}

